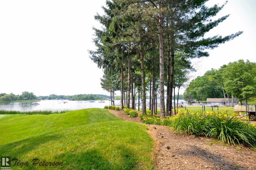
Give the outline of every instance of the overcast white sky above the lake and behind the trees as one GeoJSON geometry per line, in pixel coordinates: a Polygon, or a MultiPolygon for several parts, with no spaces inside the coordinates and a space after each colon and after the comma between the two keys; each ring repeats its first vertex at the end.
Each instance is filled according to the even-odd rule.
{"type": "MultiPolygon", "coordinates": [[[[95,49],[92,27],[101,27],[94,20],[96,12],[103,14],[101,6],[105,0],[0,1],[0,93],[109,95],[101,89],[102,69],[87,51],[95,49]]],[[[254,0],[230,0],[219,12],[217,17],[231,15],[206,36],[244,33],[210,50],[208,58],[193,60],[198,68],[194,76],[238,59],[256,62],[255,7],[254,0]]]]}

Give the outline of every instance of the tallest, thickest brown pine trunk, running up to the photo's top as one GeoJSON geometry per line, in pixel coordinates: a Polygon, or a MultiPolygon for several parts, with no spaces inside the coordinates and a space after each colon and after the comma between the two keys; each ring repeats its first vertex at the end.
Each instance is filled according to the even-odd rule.
{"type": "Polygon", "coordinates": [[[160,68],[160,117],[164,118],[165,115],[165,104],[164,104],[164,37],[163,37],[163,0],[159,0],[159,24],[158,24],[158,35],[159,35],[159,68],[160,68]]]}

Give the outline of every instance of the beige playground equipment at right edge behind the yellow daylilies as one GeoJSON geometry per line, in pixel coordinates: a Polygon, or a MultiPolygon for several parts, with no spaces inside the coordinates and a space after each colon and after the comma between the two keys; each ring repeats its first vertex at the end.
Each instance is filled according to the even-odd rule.
{"type": "Polygon", "coordinates": [[[256,120],[256,115],[255,115],[255,110],[256,110],[256,104],[251,104],[251,105],[245,105],[245,106],[239,106],[238,104],[234,107],[234,112],[236,114],[239,114],[241,116],[244,116],[244,114],[240,112],[246,112],[246,117],[249,115],[249,119],[256,120]]]}

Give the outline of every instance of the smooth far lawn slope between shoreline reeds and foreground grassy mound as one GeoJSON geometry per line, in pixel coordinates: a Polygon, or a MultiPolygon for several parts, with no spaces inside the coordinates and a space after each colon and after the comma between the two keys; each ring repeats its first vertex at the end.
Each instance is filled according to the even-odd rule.
{"type": "Polygon", "coordinates": [[[5,115],[0,118],[5,133],[0,136],[0,145],[55,130],[114,120],[121,119],[99,108],[51,115],[5,115]]]}

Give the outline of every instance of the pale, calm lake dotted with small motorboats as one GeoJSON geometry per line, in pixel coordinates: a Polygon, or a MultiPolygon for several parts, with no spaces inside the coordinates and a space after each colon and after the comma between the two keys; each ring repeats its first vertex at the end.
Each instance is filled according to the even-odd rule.
{"type": "MultiPolygon", "coordinates": [[[[104,100],[105,103],[99,101],[68,101],[64,100],[42,100],[39,105],[31,105],[33,102],[0,102],[0,110],[16,110],[16,111],[34,111],[34,110],[51,110],[51,111],[64,111],[64,110],[80,110],[85,108],[104,108],[109,105],[109,100],[104,100]]],[[[148,100],[147,100],[148,101],[148,100]]],[[[179,100],[181,102],[183,100],[179,100]]],[[[115,100],[118,104],[120,100],[115,100]]],[[[148,107],[148,106],[147,106],[148,107]]],[[[138,108],[138,106],[137,106],[138,108]]],[[[141,106],[140,106],[141,108],[141,106]]]]}

